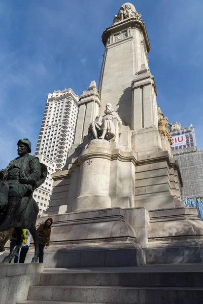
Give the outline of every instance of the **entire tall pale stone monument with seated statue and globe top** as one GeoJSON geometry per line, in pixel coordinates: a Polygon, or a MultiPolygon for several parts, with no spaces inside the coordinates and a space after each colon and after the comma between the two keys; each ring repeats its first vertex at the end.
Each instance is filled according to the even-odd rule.
{"type": "Polygon", "coordinates": [[[67,252],[74,247],[81,267],[151,262],[152,252],[158,258],[163,248],[178,248],[180,240],[185,246],[188,235],[195,244],[201,234],[196,210],[183,207],[141,14],[123,4],[102,37],[98,90],[92,81],[80,96],[75,141],[64,169],[53,174],[48,209],[52,242],[67,252]]]}

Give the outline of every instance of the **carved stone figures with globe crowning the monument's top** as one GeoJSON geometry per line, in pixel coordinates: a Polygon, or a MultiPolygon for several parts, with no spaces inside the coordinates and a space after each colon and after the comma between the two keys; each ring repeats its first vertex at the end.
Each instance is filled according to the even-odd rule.
{"type": "Polygon", "coordinates": [[[136,8],[131,3],[124,3],[115,15],[114,22],[119,22],[128,18],[141,18],[141,14],[136,11],[136,8]]]}

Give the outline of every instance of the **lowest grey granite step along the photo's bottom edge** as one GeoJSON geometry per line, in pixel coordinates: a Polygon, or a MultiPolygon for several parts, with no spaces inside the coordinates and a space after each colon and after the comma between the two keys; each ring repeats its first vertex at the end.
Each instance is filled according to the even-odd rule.
{"type": "MultiPolygon", "coordinates": [[[[29,301],[66,301],[116,304],[202,304],[203,288],[115,287],[115,286],[33,286],[29,301]]],[[[39,304],[39,302],[36,302],[39,304]]]]}

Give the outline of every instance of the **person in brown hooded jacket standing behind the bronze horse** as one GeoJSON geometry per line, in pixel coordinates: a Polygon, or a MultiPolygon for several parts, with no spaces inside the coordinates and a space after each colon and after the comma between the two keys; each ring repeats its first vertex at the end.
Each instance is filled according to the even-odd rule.
{"type": "Polygon", "coordinates": [[[37,229],[37,232],[39,234],[39,263],[43,263],[44,261],[44,247],[45,249],[49,246],[50,241],[50,235],[51,235],[51,224],[52,224],[52,218],[49,217],[44,223],[40,224],[40,226],[37,229]]]}

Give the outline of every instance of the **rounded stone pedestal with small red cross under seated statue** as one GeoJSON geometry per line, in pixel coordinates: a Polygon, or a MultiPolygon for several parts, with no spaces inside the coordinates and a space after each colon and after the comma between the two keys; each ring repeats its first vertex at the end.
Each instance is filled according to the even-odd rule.
{"type": "Polygon", "coordinates": [[[80,174],[74,211],[110,208],[111,149],[107,140],[91,140],[78,162],[80,174]]]}

